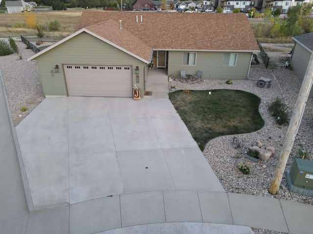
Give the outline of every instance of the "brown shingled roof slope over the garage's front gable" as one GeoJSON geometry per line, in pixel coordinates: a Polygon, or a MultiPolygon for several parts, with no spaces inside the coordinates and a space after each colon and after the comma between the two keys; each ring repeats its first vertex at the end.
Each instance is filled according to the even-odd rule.
{"type": "Polygon", "coordinates": [[[107,39],[134,55],[150,61],[152,48],[122,27],[119,22],[108,20],[86,27],[90,32],[107,39]]]}

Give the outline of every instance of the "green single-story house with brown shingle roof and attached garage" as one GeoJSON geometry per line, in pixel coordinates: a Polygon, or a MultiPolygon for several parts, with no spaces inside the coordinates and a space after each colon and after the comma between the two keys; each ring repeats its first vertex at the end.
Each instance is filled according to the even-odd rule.
{"type": "Polygon", "coordinates": [[[153,60],[168,76],[246,79],[257,51],[244,14],[85,11],[74,34],[28,60],[37,60],[45,95],[132,97],[134,83],[145,91],[153,60]],[[190,33],[173,26],[182,22],[190,33]],[[211,30],[192,30],[200,23],[211,30]]]}

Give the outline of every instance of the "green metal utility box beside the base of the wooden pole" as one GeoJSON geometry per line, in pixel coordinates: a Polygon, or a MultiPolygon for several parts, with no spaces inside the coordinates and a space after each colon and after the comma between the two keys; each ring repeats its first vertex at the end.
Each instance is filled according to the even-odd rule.
{"type": "Polygon", "coordinates": [[[293,186],[313,189],[313,161],[294,158],[290,178],[293,186]]]}

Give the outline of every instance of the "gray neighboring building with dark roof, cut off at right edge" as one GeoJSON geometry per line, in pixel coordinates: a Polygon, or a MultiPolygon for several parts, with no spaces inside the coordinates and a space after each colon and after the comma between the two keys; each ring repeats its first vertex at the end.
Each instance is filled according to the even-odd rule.
{"type": "Polygon", "coordinates": [[[313,33],[292,37],[294,47],[291,55],[291,66],[297,76],[303,80],[313,51],[313,33]]]}

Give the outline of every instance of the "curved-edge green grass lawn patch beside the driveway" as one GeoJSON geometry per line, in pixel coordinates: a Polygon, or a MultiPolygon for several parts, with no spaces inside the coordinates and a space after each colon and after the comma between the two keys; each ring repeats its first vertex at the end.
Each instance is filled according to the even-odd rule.
{"type": "Polygon", "coordinates": [[[250,133],[261,129],[261,99],[240,90],[183,91],[169,94],[170,100],[192,137],[203,151],[219,136],[250,133]]]}

